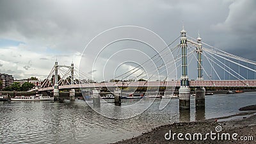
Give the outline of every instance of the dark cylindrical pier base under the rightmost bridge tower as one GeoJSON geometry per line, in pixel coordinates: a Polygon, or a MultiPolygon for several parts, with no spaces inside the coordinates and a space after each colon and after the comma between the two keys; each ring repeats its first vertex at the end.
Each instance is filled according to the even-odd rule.
{"type": "Polygon", "coordinates": [[[204,108],[205,107],[205,88],[196,88],[196,108],[204,108]]]}

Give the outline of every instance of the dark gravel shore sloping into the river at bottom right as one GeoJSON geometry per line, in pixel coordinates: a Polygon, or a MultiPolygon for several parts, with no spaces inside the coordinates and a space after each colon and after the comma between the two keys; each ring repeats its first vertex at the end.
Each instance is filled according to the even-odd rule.
{"type": "MultiPolygon", "coordinates": [[[[228,122],[218,122],[218,118],[217,122],[216,119],[211,119],[202,122],[163,125],[152,129],[150,132],[145,132],[138,137],[118,141],[116,143],[256,143],[256,115],[252,113],[254,112],[247,113],[247,115],[246,113],[238,114],[236,116],[242,116],[241,119],[230,120],[228,122]],[[184,140],[179,140],[179,133],[183,134],[182,136],[180,134],[179,138],[183,138],[184,140]],[[197,137],[196,134],[198,133],[202,134],[202,140],[200,140],[200,135],[197,137]],[[230,136],[229,140],[225,140],[225,134],[227,133],[230,136]],[[186,138],[190,139],[189,134],[191,135],[191,140],[186,140],[186,138]],[[193,137],[194,134],[195,138],[193,137]],[[170,140],[166,140],[164,136],[167,139],[170,138],[170,140]],[[214,136],[215,140],[213,140],[214,136]],[[199,140],[197,140],[197,138],[199,140]],[[247,139],[247,141],[244,139],[247,139]]],[[[228,116],[226,118],[228,118],[228,116]]]]}

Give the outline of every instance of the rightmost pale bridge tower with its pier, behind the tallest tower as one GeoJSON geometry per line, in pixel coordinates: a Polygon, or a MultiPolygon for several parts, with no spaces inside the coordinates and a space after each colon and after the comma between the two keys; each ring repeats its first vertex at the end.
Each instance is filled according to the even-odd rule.
{"type": "MultiPolygon", "coordinates": [[[[200,38],[200,35],[198,33],[197,40],[197,47],[196,47],[196,53],[197,53],[197,72],[198,72],[198,81],[203,81],[202,77],[202,38],[200,38]]],[[[204,86],[201,86],[200,88],[196,88],[196,108],[204,107],[205,106],[205,88],[204,86]]]]}

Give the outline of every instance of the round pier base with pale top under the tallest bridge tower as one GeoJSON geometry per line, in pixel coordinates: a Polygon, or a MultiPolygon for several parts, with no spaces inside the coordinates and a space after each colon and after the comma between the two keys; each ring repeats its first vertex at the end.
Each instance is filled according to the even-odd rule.
{"type": "Polygon", "coordinates": [[[190,88],[188,86],[180,86],[179,108],[190,109],[190,88]]]}

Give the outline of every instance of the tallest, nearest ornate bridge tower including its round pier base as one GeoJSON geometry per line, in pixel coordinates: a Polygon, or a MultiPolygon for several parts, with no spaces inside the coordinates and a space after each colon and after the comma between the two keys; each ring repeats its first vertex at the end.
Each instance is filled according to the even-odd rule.
{"type": "Polygon", "coordinates": [[[187,37],[184,26],[180,31],[180,47],[182,58],[182,76],[180,77],[180,89],[179,89],[179,108],[190,109],[190,88],[188,81],[188,67],[187,67],[187,37]]]}

